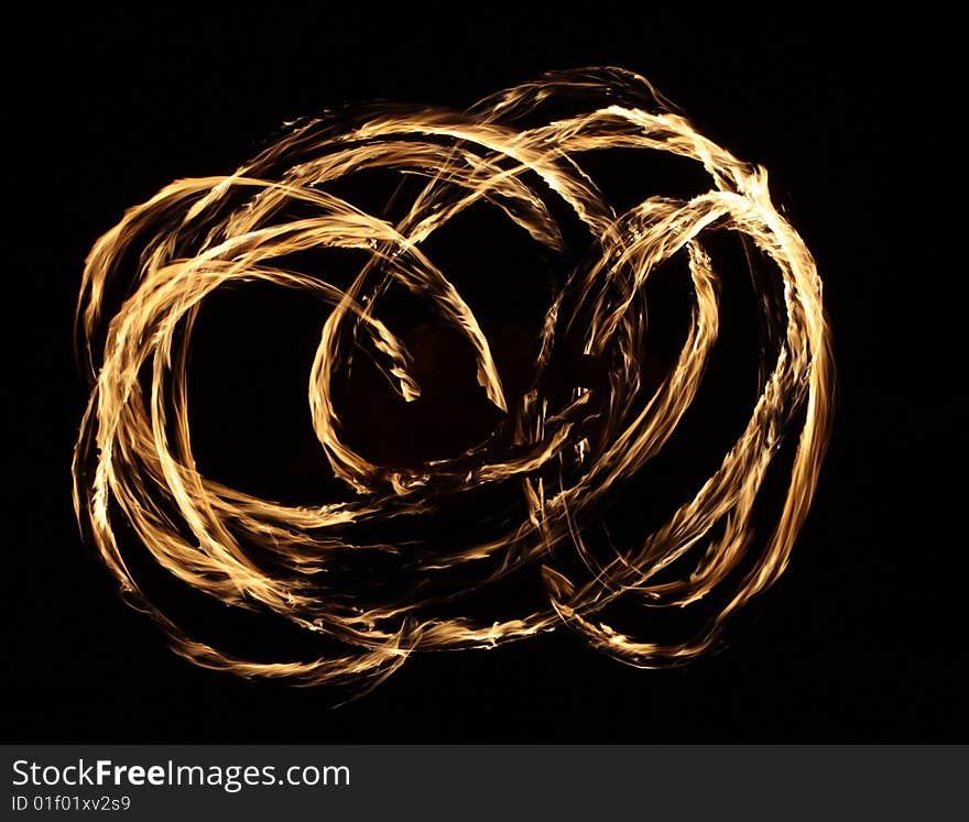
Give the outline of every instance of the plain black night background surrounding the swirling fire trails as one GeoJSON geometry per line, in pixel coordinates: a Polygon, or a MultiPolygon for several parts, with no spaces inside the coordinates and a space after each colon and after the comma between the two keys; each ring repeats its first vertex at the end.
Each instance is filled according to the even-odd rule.
{"type": "MultiPolygon", "coordinates": [[[[918,116],[944,110],[933,76],[945,48],[928,24],[672,22],[602,3],[390,19],[362,4],[338,17],[313,8],[91,13],[9,35],[29,45],[7,57],[6,109],[8,224],[23,220],[8,240],[7,311],[26,330],[8,343],[25,373],[8,376],[2,738],[966,742],[965,535],[959,489],[938,474],[965,442],[965,382],[945,372],[945,324],[958,318],[939,285],[940,245],[912,228],[933,219],[946,174],[940,145],[906,145],[918,116]],[[72,316],[92,242],[170,180],[232,171],[284,120],[375,98],[464,108],[546,69],[610,64],[649,77],[701,131],[771,171],[825,281],[838,410],[782,581],[725,653],[673,671],[620,666],[559,632],[416,656],[333,710],[320,693],[175,657],[121,603],[73,517],[85,390],[72,316]],[[914,216],[902,205],[913,191],[914,216]]],[[[227,427],[235,452],[255,452],[241,425],[227,427]]],[[[260,473],[257,458],[243,462],[260,473]]]]}

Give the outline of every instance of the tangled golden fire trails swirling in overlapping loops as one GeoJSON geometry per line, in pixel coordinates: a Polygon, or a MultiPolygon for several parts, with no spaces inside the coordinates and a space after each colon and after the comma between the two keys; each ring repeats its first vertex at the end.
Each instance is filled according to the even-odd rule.
{"type": "Polygon", "coordinates": [[[74,462],[84,531],[176,653],[202,666],[300,684],[370,687],[412,651],[494,647],[563,624],[634,666],[703,654],[723,621],[783,572],[815,491],[831,408],[821,283],[804,242],[773,207],[765,171],[697,133],[646,80],[620,69],[548,75],[467,112],[390,108],[349,124],[328,117],[302,122],[230,176],[175,182],[129,210],[91,250],[78,332],[92,382],[74,462]],[[584,113],[522,125],[543,122],[563,101],[581,101],[584,113]],[[700,164],[710,190],[688,200],[644,196],[617,215],[581,169],[584,155],[613,147],[700,164]],[[423,180],[396,224],[328,190],[335,180],[375,168],[423,180]],[[548,306],[532,388],[507,396],[489,340],[422,243],[469,206],[487,202],[535,242],[559,251],[552,200],[571,209],[595,241],[548,306]],[[720,277],[701,242],[711,230],[739,233],[772,261],[774,278],[761,284],[759,308],[775,344],[761,363],[760,395],[744,430],[693,498],[654,533],[616,546],[603,560],[584,539],[597,506],[663,448],[717,341],[720,277]],[[338,287],[281,264],[307,249],[361,250],[368,262],[352,283],[338,287]],[[678,359],[660,387],[644,395],[644,286],[674,255],[688,261],[692,322],[678,359]],[[352,497],[287,506],[227,487],[195,468],[186,387],[193,324],[217,288],[254,281],[302,289],[328,305],[308,375],[309,406],[320,447],[352,497]],[[369,350],[405,399],[421,391],[410,352],[380,319],[381,296],[391,287],[421,295],[468,341],[478,381],[507,413],[512,447],[486,440],[413,469],[371,464],[341,439],[331,382],[355,346],[369,350]],[[107,316],[108,295],[118,292],[123,303],[107,316]],[[552,405],[541,375],[566,332],[578,336],[586,354],[608,363],[608,380],[576,387],[567,402],[552,405]],[[597,415],[592,436],[588,418],[597,415]],[[791,436],[798,427],[780,518],[752,554],[754,500],[782,431],[791,436]],[[503,520],[497,533],[482,524],[479,544],[442,548],[438,534],[434,550],[423,550],[420,539],[394,544],[386,537],[410,517],[423,517],[432,529],[442,501],[498,483],[518,490],[520,516],[503,520]],[[274,612],[344,650],[301,661],[249,661],[189,637],[141,593],[116,538],[117,517],[185,584],[229,605],[274,612]],[[374,533],[380,538],[368,541],[374,533]],[[392,601],[381,601],[380,587],[367,580],[344,584],[344,571],[374,552],[403,580],[392,601]],[[584,576],[566,568],[567,557],[583,561],[573,566],[584,576]],[[688,561],[679,576],[657,577],[677,561],[688,561]],[[339,585],[328,574],[336,568],[344,574],[339,585]],[[544,601],[526,613],[476,622],[438,607],[453,610],[469,590],[522,569],[540,576],[544,589],[544,601]],[[651,642],[647,618],[644,637],[602,621],[603,609],[620,599],[681,607],[728,581],[709,622],[682,642],[651,642]]]}

